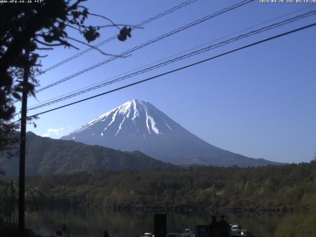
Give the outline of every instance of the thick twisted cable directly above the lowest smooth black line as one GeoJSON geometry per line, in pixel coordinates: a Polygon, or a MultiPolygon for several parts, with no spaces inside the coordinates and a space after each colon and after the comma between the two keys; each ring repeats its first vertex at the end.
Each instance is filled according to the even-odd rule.
{"type": "Polygon", "coordinates": [[[47,102],[47,103],[42,103],[41,105],[38,105],[38,106],[33,106],[33,107],[29,108],[28,111],[30,111],[30,110],[35,110],[35,109],[39,109],[39,108],[42,108],[42,107],[45,107],[45,106],[48,106],[48,105],[51,105],[51,104],[55,104],[55,103],[57,103],[57,102],[60,102],[60,101],[63,101],[63,100],[66,100],[66,99],[69,99],[69,98],[78,96],[78,95],[80,95],[80,94],[84,94],[84,93],[86,93],[86,92],[88,92],[88,91],[95,90],[95,89],[101,88],[101,87],[103,87],[103,86],[106,86],[106,85],[109,85],[109,84],[113,84],[113,83],[116,83],[116,82],[118,82],[118,81],[121,81],[121,80],[124,80],[124,79],[128,79],[128,78],[137,76],[137,75],[139,75],[139,74],[143,74],[143,73],[152,71],[152,70],[154,70],[154,69],[157,69],[157,68],[163,67],[163,66],[165,66],[165,65],[168,65],[168,64],[171,64],[171,63],[174,63],[174,62],[183,60],[183,59],[185,59],[185,58],[192,57],[192,56],[194,56],[194,55],[207,52],[207,51],[209,51],[209,50],[211,50],[211,49],[218,48],[218,47],[223,46],[223,45],[226,45],[226,44],[228,44],[228,43],[235,42],[235,41],[237,41],[237,40],[241,40],[241,39],[244,39],[244,38],[246,38],[246,37],[253,36],[253,35],[259,34],[259,33],[261,33],[261,32],[265,32],[265,31],[274,29],[274,28],[276,28],[276,27],[280,27],[280,26],[283,26],[283,25],[285,25],[285,24],[292,23],[292,22],[294,22],[294,21],[297,21],[297,20],[300,20],[300,19],[303,19],[303,18],[306,18],[306,17],[309,17],[309,16],[313,16],[313,15],[315,15],[315,14],[316,14],[316,10],[310,11],[310,12],[307,12],[307,13],[304,13],[304,14],[301,14],[301,15],[296,16],[296,17],[292,17],[292,18],[290,18],[290,19],[287,19],[287,20],[284,20],[284,21],[281,21],[281,22],[277,22],[277,23],[275,23],[275,24],[272,24],[272,25],[269,25],[269,26],[260,28],[260,29],[255,30],[255,31],[251,31],[251,32],[249,32],[249,33],[240,35],[240,36],[238,36],[238,37],[235,37],[235,38],[232,38],[232,39],[229,39],[229,40],[225,40],[225,41],[219,42],[219,43],[217,43],[217,44],[213,44],[213,45],[210,45],[210,46],[208,46],[208,47],[199,49],[199,50],[197,50],[197,51],[194,51],[194,52],[191,52],[191,53],[182,55],[182,56],[180,56],[180,57],[176,57],[176,58],[174,58],[174,59],[171,59],[171,60],[168,60],[168,61],[159,63],[159,64],[154,65],[154,66],[152,66],[152,67],[149,67],[149,68],[146,68],[146,69],[137,71],[137,72],[135,72],[135,73],[132,73],[132,74],[129,74],[129,75],[120,77],[120,78],[118,78],[118,79],[114,79],[114,80],[111,80],[111,81],[108,81],[108,82],[105,82],[105,83],[102,83],[102,84],[99,84],[99,85],[96,85],[96,86],[87,88],[87,89],[85,89],[85,90],[81,90],[81,91],[79,91],[79,92],[70,94],[70,95],[68,95],[68,96],[65,96],[65,97],[62,97],[62,98],[59,98],[59,99],[56,99],[56,100],[52,100],[52,101],[47,102]]]}

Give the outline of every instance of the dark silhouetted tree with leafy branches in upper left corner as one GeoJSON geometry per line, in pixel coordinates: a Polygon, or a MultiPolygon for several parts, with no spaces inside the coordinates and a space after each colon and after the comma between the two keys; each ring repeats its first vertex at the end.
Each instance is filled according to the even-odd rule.
{"type": "Polygon", "coordinates": [[[86,0],[44,0],[34,4],[0,3],[0,122],[13,118],[15,107],[11,102],[13,98],[20,99],[23,86],[29,93],[34,93],[38,82],[33,75],[40,72],[40,50],[51,50],[55,46],[78,49],[72,42],[87,44],[69,36],[68,28],[77,30],[87,42],[97,39],[100,36],[98,30],[102,27],[117,27],[119,40],[126,40],[127,36],[131,36],[131,28],[123,25],[120,29],[110,19],[90,13],[88,8],[81,5],[84,1],[86,0]],[[102,17],[111,24],[85,25],[86,19],[91,15],[102,17]],[[30,52],[29,59],[25,57],[25,51],[30,52]],[[26,65],[31,68],[31,81],[23,84],[19,79],[23,77],[23,68],[26,65]],[[14,84],[14,81],[18,83],[14,84]]]}

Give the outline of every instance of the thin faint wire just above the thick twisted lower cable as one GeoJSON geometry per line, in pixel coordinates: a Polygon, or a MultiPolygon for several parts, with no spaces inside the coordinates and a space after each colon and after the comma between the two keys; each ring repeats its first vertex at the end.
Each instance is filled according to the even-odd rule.
{"type": "Polygon", "coordinates": [[[193,50],[193,49],[199,48],[199,47],[201,47],[201,46],[207,45],[207,44],[209,44],[209,43],[211,43],[211,42],[215,42],[215,41],[218,41],[218,40],[225,39],[225,38],[227,38],[227,37],[229,37],[229,36],[236,35],[236,34],[238,34],[238,33],[244,32],[244,31],[246,31],[246,30],[248,30],[248,29],[252,29],[252,28],[254,28],[254,27],[256,27],[256,26],[263,25],[263,24],[265,24],[265,23],[274,21],[274,20],[276,20],[276,19],[282,18],[282,17],[284,17],[284,16],[287,16],[287,15],[293,14],[293,13],[295,13],[295,12],[298,12],[298,11],[301,11],[301,10],[305,10],[305,9],[307,9],[307,8],[314,7],[314,6],[315,6],[315,5],[310,5],[310,6],[307,6],[307,7],[303,7],[303,8],[301,8],[301,9],[298,9],[298,10],[295,10],[295,11],[292,11],[292,12],[289,12],[289,13],[286,13],[286,14],[284,14],[284,15],[278,16],[278,17],[276,17],[276,18],[273,18],[273,19],[271,19],[271,20],[264,21],[264,22],[262,22],[262,23],[260,23],[260,24],[253,25],[253,26],[251,26],[251,27],[245,28],[245,29],[240,30],[240,31],[237,31],[237,32],[235,32],[235,33],[232,33],[232,34],[226,35],[226,36],[224,36],[224,37],[218,38],[218,39],[216,39],[216,40],[211,40],[211,41],[208,41],[207,43],[203,43],[203,44],[200,44],[200,45],[198,45],[198,46],[196,46],[196,47],[193,47],[193,48],[187,49],[187,50],[185,50],[185,51],[182,51],[182,52],[179,52],[179,53],[170,55],[170,56],[168,56],[168,57],[166,57],[166,58],[159,59],[159,60],[157,60],[157,61],[155,61],[155,62],[152,62],[152,63],[150,63],[150,64],[146,64],[146,65],[144,65],[144,66],[138,67],[138,68],[133,69],[133,70],[130,70],[130,71],[128,71],[128,72],[121,73],[121,74],[119,74],[119,75],[117,75],[117,76],[114,76],[114,77],[111,77],[111,78],[109,78],[109,79],[101,80],[101,81],[99,81],[99,82],[90,84],[90,85],[88,85],[88,86],[84,86],[84,87],[82,87],[82,88],[80,88],[80,89],[77,89],[77,90],[68,92],[68,93],[66,93],[66,94],[63,94],[63,95],[54,97],[54,98],[49,99],[49,100],[45,100],[45,101],[43,101],[43,102],[37,103],[37,104],[35,104],[35,105],[33,105],[33,106],[30,106],[30,109],[32,109],[33,107],[36,107],[36,106],[38,106],[38,105],[44,104],[44,103],[46,103],[46,102],[49,102],[49,101],[52,101],[52,100],[55,100],[55,99],[64,97],[64,96],[69,95],[69,94],[71,94],[71,93],[75,93],[75,92],[77,92],[77,91],[79,91],[79,90],[88,88],[88,87],[90,87],[90,86],[94,86],[94,85],[100,84],[101,82],[109,81],[110,79],[114,79],[114,78],[117,78],[117,77],[119,77],[119,76],[125,75],[125,74],[127,74],[127,73],[134,72],[134,71],[136,71],[136,70],[138,70],[138,69],[145,68],[145,67],[147,67],[147,66],[153,65],[154,63],[161,62],[161,61],[166,60],[166,59],[168,59],[168,58],[171,58],[171,57],[180,55],[181,53],[185,53],[185,52],[188,52],[188,51],[190,51],[190,50],[193,50]]]}

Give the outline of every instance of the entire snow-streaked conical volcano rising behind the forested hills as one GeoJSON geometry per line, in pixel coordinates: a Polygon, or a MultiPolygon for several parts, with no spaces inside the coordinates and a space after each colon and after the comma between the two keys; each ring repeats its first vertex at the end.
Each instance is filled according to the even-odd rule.
{"type": "Polygon", "coordinates": [[[122,151],[141,151],[174,164],[258,166],[279,164],[215,147],[192,134],[147,101],[132,100],[61,137],[122,151]]]}

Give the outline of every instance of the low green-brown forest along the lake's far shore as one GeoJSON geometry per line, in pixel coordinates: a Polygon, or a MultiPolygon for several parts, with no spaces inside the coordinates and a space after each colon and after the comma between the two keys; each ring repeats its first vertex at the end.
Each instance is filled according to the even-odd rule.
{"type": "Polygon", "coordinates": [[[50,204],[227,210],[316,206],[316,161],[249,168],[91,171],[34,176],[27,183],[50,204]]]}

